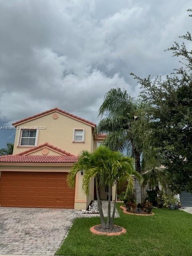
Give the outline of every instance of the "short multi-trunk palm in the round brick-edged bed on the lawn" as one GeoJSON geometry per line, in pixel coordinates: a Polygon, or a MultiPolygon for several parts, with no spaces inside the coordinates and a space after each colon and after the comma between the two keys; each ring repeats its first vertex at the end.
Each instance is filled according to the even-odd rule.
{"type": "Polygon", "coordinates": [[[116,194],[114,200],[114,208],[111,216],[111,186],[116,184],[116,192],[118,183],[129,180],[126,187],[126,193],[130,194],[134,189],[133,176],[142,179],[141,175],[134,169],[134,161],[129,156],[124,156],[118,151],[112,151],[107,147],[100,146],[93,153],[86,150],[79,155],[78,161],[73,165],[68,174],[68,186],[75,187],[76,174],[84,170],[82,190],[85,194],[89,194],[89,183],[92,178],[96,180],[96,195],[102,228],[113,228],[114,215],[116,209],[116,194]],[[108,215],[105,222],[102,205],[99,196],[99,185],[108,185],[108,215]]]}

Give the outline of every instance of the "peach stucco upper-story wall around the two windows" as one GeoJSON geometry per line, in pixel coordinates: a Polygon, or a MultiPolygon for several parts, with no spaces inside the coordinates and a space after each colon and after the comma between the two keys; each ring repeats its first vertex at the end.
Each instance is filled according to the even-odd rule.
{"type": "MultiPolygon", "coordinates": [[[[62,148],[72,154],[79,154],[82,150],[93,150],[92,127],[74,120],[68,116],[58,114],[58,119],[53,119],[52,114],[39,117],[21,124],[20,126],[45,126],[45,130],[39,130],[37,146],[48,142],[58,148],[62,148]],[[73,129],[85,129],[85,142],[73,142],[73,129]]],[[[18,154],[31,147],[17,146],[19,130],[16,130],[14,152],[18,154]]]]}

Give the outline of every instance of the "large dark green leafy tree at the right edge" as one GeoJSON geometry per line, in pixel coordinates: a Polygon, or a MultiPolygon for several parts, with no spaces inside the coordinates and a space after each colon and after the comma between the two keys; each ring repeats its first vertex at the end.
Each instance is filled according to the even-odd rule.
{"type": "Polygon", "coordinates": [[[167,50],[179,57],[181,66],[166,79],[132,75],[141,84],[142,98],[152,106],[154,147],[162,154],[171,190],[192,192],[192,37],[187,32],[180,38],[187,44],[174,42],[167,50]]]}

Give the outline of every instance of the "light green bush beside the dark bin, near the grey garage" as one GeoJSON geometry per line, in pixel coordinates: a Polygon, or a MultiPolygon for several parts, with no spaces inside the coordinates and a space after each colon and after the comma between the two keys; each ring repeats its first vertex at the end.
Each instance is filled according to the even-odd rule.
{"type": "Polygon", "coordinates": [[[178,199],[174,197],[172,192],[158,192],[157,197],[158,207],[168,208],[169,206],[174,206],[178,204],[178,199]]]}

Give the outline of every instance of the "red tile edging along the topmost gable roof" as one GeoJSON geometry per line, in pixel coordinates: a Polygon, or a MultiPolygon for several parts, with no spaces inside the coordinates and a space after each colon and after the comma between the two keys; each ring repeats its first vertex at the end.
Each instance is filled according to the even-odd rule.
{"type": "Polygon", "coordinates": [[[28,120],[35,119],[35,118],[38,118],[38,117],[40,117],[40,116],[44,116],[44,115],[49,114],[49,113],[54,112],[54,111],[59,112],[59,113],[61,113],[61,114],[64,114],[65,116],[69,116],[69,117],[75,118],[75,119],[77,119],[77,120],[80,120],[80,121],[82,121],[82,122],[84,122],[84,123],[86,123],[86,124],[88,124],[88,125],[90,125],[90,126],[93,126],[93,127],[96,126],[96,124],[94,124],[93,122],[90,122],[90,121],[88,121],[88,120],[86,120],[86,119],[84,119],[84,118],[81,118],[81,117],[79,117],[79,116],[75,116],[75,115],[73,115],[73,114],[70,114],[70,113],[68,113],[68,112],[66,112],[66,111],[64,111],[64,110],[62,110],[62,109],[59,109],[59,108],[52,108],[52,109],[50,109],[50,110],[47,110],[47,111],[45,111],[45,112],[36,114],[36,115],[34,115],[34,116],[30,116],[30,117],[28,117],[28,118],[24,118],[24,119],[22,119],[22,120],[20,120],[20,121],[14,122],[12,125],[17,126],[18,124],[22,124],[22,123],[24,123],[24,122],[26,122],[26,121],[28,121],[28,120]]]}

